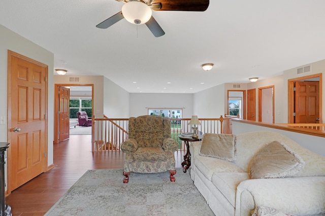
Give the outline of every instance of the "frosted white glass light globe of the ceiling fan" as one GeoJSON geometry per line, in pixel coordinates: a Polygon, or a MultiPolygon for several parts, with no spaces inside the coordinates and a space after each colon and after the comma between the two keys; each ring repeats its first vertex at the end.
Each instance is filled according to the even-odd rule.
{"type": "Polygon", "coordinates": [[[152,11],[142,2],[128,2],[122,6],[124,18],[132,24],[144,24],[151,18],[152,11]]]}

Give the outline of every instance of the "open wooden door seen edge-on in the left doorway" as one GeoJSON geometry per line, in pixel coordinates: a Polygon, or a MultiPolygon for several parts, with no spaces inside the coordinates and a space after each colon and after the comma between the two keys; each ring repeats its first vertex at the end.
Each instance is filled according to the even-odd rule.
{"type": "Polygon", "coordinates": [[[59,128],[58,128],[58,133],[59,133],[59,141],[62,141],[64,139],[68,139],[69,138],[69,128],[70,128],[70,124],[69,124],[69,114],[70,114],[70,105],[69,105],[69,101],[70,101],[70,89],[60,86],[59,87],[59,128]]]}

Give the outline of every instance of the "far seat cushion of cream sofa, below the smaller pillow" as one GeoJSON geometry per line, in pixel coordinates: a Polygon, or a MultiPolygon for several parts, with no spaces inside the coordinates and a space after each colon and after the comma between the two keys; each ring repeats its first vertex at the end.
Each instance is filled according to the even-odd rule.
{"type": "Polygon", "coordinates": [[[200,155],[196,157],[195,165],[209,181],[212,181],[214,172],[245,172],[232,162],[200,155]]]}

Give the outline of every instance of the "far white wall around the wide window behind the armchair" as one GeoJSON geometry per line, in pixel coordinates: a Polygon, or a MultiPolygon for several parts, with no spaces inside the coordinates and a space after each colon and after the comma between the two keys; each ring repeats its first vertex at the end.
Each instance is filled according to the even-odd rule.
{"type": "MultiPolygon", "coordinates": [[[[196,115],[192,110],[193,94],[130,93],[130,117],[148,115],[148,108],[182,109],[183,118],[196,115]]],[[[200,116],[199,116],[200,118],[200,116]]]]}

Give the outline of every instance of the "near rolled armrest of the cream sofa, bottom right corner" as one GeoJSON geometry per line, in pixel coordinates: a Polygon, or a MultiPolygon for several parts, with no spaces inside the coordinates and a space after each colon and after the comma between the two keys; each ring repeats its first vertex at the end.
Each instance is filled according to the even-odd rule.
{"type": "Polygon", "coordinates": [[[236,192],[236,216],[267,206],[298,215],[325,213],[325,176],[259,178],[243,181],[236,192]]]}

